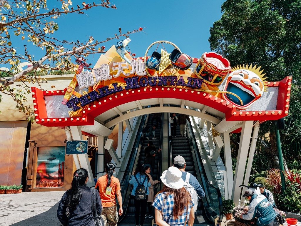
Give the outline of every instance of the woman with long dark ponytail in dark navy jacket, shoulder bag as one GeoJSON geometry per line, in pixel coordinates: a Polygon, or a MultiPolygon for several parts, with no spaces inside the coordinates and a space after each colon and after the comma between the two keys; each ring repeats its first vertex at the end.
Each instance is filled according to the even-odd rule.
{"type": "MultiPolygon", "coordinates": [[[[64,226],[95,226],[92,214],[92,192],[87,182],[86,169],[79,168],[73,173],[71,188],[64,193],[57,208],[57,218],[64,226]]],[[[101,200],[97,193],[97,215],[101,214],[101,210],[101,200]]]]}

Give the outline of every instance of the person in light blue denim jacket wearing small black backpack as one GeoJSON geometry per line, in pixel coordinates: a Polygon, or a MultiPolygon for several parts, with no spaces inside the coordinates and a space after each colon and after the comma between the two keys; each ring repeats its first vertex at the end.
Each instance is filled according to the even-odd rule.
{"type": "Polygon", "coordinates": [[[132,190],[131,195],[134,196],[133,198],[135,199],[136,226],[138,226],[138,225],[142,226],[144,223],[144,218],[145,218],[145,214],[146,214],[147,196],[149,194],[148,187],[151,187],[151,182],[149,180],[149,177],[145,174],[143,165],[137,166],[134,174],[130,178],[129,183],[133,185],[133,190],[132,190]],[[136,193],[136,188],[138,187],[138,182],[139,182],[139,184],[144,182],[143,185],[145,187],[145,192],[146,192],[145,199],[135,199],[135,195],[136,195],[135,193],[136,193]],[[139,216],[140,216],[140,224],[139,224],[139,216]]]}

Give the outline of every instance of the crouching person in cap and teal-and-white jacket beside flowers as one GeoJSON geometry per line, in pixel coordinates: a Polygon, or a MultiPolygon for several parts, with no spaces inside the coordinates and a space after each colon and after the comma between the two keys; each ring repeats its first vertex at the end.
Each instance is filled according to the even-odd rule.
{"type": "Polygon", "coordinates": [[[277,214],[265,196],[256,195],[254,194],[254,191],[247,189],[243,194],[243,197],[246,197],[250,201],[250,204],[249,206],[245,207],[245,214],[240,215],[241,219],[249,221],[256,217],[256,224],[258,226],[279,226],[279,223],[276,219],[277,214]]]}

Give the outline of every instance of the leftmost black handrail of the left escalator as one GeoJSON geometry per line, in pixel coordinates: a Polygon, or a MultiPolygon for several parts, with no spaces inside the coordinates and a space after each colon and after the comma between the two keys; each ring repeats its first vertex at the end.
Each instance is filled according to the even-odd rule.
{"type": "Polygon", "coordinates": [[[131,192],[132,192],[132,186],[129,186],[129,177],[133,173],[133,168],[134,168],[136,159],[139,158],[138,150],[139,150],[139,147],[140,147],[140,150],[142,147],[143,137],[144,137],[144,133],[142,132],[142,130],[146,126],[147,118],[148,118],[148,115],[143,115],[143,117],[141,119],[141,123],[140,123],[139,129],[138,129],[138,132],[137,132],[137,136],[135,138],[135,143],[132,148],[131,155],[129,157],[130,162],[128,162],[125,173],[124,173],[123,184],[122,184],[123,188],[121,191],[121,196],[122,196],[122,200],[123,200],[122,207],[123,207],[124,214],[119,217],[119,222],[122,221],[123,218],[126,216],[127,207],[128,207],[131,192]],[[125,186],[126,185],[125,183],[127,183],[127,186],[125,186]]]}

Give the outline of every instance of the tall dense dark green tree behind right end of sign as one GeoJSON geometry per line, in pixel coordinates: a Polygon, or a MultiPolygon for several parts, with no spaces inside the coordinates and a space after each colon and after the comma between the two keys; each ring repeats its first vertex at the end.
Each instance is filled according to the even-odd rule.
{"type": "MultiPolygon", "coordinates": [[[[281,138],[285,158],[300,160],[301,1],[227,0],[221,9],[221,19],[210,28],[213,51],[228,58],[232,66],[261,65],[270,81],[293,77],[289,115],[281,138]]],[[[267,154],[265,166],[277,167],[273,123],[265,122],[260,128],[257,151],[267,154]]]]}

